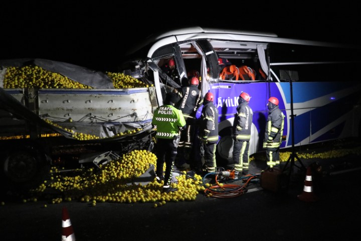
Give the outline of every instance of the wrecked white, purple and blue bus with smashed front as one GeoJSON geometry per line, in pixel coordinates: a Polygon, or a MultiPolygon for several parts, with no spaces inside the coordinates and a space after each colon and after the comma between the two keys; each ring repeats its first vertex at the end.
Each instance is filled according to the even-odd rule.
{"type": "Polygon", "coordinates": [[[194,27],[150,36],[136,51],[130,51],[133,61],[127,63],[133,67],[125,73],[154,83],[162,93],[157,95],[158,104],[165,92],[199,75],[202,93],[214,93],[220,113],[217,160],[229,161],[234,114],[242,91],[252,97],[251,154],[262,151],[270,96],[279,99],[286,116],[281,148],[360,137],[360,54],[359,46],[194,27]],[[171,58],[180,81],[160,68],[171,58]]]}

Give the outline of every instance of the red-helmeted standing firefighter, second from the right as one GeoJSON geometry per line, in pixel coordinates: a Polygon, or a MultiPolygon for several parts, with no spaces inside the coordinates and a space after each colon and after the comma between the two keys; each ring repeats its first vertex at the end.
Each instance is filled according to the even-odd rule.
{"type": "Polygon", "coordinates": [[[253,111],[248,105],[251,96],[242,92],[238,98],[237,113],[233,123],[233,165],[235,175],[241,177],[248,174],[249,169],[249,141],[253,111]]]}

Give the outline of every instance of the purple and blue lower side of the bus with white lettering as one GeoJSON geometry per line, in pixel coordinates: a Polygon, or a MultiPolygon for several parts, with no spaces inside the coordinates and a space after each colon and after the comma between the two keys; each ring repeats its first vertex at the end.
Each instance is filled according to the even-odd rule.
{"type": "MultiPolygon", "coordinates": [[[[281,148],[292,146],[291,88],[289,82],[213,83],[210,91],[219,110],[220,143],[232,135],[234,114],[242,91],[251,96],[253,129],[250,153],[262,150],[267,120],[267,102],[277,97],[285,114],[281,148]]],[[[361,84],[354,82],[292,82],[294,144],[307,145],[336,138],[357,136],[360,126],[361,84]]],[[[202,108],[199,109],[198,117],[202,108]]],[[[229,145],[229,141],[225,142],[229,145]]],[[[228,152],[228,151],[227,151],[228,152]]],[[[231,153],[232,150],[229,150],[231,153]]],[[[228,155],[229,156],[229,155],[228,155]]]]}

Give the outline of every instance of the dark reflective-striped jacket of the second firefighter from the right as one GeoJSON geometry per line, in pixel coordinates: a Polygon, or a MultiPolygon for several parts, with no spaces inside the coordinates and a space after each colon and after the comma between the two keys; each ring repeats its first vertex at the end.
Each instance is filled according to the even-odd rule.
{"type": "Polygon", "coordinates": [[[237,113],[233,123],[234,137],[240,141],[249,141],[251,139],[253,111],[248,102],[241,102],[237,106],[237,113]]]}

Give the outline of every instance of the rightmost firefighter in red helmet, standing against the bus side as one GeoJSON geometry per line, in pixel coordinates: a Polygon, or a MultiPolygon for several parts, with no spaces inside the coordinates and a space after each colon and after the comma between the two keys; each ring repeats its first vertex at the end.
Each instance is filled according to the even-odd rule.
{"type": "Polygon", "coordinates": [[[280,155],[279,148],[282,143],[282,133],[285,115],[278,108],[278,99],[270,97],[268,99],[268,117],[266,123],[263,149],[266,149],[266,160],[268,168],[279,168],[280,155]]]}

